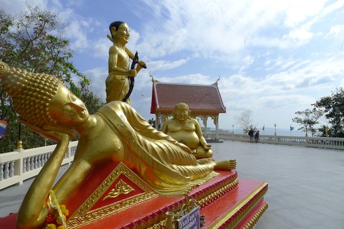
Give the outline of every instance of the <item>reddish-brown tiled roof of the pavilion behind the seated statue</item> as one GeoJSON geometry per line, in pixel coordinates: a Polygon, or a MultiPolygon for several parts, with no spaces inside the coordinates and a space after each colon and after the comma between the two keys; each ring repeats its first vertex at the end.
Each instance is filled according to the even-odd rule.
{"type": "Polygon", "coordinates": [[[173,111],[180,102],[194,112],[226,113],[217,84],[153,82],[151,113],[173,111]]]}

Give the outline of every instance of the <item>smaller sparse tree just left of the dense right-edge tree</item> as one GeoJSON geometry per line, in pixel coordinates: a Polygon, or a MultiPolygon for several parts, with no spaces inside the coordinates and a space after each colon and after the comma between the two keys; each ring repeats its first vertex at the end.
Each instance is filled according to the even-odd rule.
{"type": "Polygon", "coordinates": [[[318,119],[323,115],[323,111],[313,108],[311,110],[306,109],[304,111],[297,111],[295,112],[295,115],[301,116],[292,119],[293,122],[300,124],[300,128],[298,130],[306,132],[306,134],[310,131],[312,136],[314,136],[316,132],[314,125],[319,123],[318,119]]]}

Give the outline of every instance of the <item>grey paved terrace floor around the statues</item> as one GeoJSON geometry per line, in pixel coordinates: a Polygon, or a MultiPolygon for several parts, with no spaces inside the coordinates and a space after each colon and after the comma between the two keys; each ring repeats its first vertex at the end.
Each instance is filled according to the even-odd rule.
{"type": "MultiPolygon", "coordinates": [[[[217,160],[237,160],[239,179],[269,183],[255,229],[344,229],[344,151],[240,141],[212,149],[217,160]]],[[[18,211],[32,180],[0,191],[0,217],[18,211]]]]}

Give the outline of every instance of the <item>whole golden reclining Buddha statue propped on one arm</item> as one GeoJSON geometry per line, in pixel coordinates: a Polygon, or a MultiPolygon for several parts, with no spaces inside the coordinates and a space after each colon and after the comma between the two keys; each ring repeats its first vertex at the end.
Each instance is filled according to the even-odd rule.
{"type": "Polygon", "coordinates": [[[188,147],[154,129],[125,102],[107,103],[89,115],[84,103],[54,76],[0,62],[0,79],[20,122],[57,142],[23,199],[18,228],[41,228],[51,189],[57,202],[65,204],[94,168],[108,161],[124,163],[157,193],[170,196],[183,195],[216,176],[214,169],[236,167],[235,160],[196,160],[188,147]],[[52,188],[73,131],[80,137],[74,160],[52,188]]]}

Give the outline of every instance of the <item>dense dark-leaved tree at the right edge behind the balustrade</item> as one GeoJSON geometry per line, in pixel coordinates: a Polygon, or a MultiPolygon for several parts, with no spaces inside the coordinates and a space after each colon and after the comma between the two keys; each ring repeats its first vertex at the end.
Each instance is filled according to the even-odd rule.
{"type": "Polygon", "coordinates": [[[331,124],[331,137],[344,137],[344,89],[337,88],[331,95],[325,96],[312,104],[325,112],[325,118],[331,124]]]}

